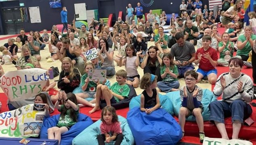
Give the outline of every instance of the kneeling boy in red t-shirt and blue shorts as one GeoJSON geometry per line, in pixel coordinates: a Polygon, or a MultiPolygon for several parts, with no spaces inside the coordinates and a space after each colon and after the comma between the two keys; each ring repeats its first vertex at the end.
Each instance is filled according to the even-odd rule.
{"type": "Polygon", "coordinates": [[[204,77],[208,77],[211,84],[215,84],[217,80],[217,60],[218,55],[214,48],[210,47],[212,37],[206,35],[202,38],[204,44],[202,48],[197,49],[195,56],[195,64],[199,64],[197,73],[197,81],[200,82],[204,77]]]}

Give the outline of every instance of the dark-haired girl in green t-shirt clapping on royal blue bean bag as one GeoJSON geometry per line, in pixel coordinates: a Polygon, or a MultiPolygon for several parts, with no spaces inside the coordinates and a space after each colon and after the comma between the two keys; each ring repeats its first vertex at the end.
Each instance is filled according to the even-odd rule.
{"type": "Polygon", "coordinates": [[[73,93],[59,93],[58,101],[54,107],[61,112],[57,126],[48,128],[48,139],[59,140],[61,143],[61,134],[69,131],[69,129],[78,121],[79,107],[77,105],[76,95],[73,93]],[[62,101],[62,105],[59,102],[62,101]]]}

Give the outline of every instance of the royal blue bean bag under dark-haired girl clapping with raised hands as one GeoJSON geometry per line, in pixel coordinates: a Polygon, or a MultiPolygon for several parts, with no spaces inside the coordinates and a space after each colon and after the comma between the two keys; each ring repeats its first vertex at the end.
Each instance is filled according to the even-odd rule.
{"type": "MultiPolygon", "coordinates": [[[[43,121],[41,132],[40,132],[40,139],[48,139],[47,129],[53,126],[56,126],[58,124],[59,116],[60,114],[52,117],[48,117],[43,121]]],[[[78,122],[74,124],[69,129],[69,131],[61,135],[60,145],[71,145],[72,139],[76,137],[79,133],[81,133],[85,128],[90,126],[92,123],[93,123],[92,119],[89,116],[79,113],[78,122]]]]}

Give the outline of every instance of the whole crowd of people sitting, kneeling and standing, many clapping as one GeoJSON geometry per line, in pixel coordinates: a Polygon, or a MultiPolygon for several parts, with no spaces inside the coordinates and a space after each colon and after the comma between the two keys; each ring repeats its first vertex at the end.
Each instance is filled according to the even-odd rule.
{"type": "MultiPolygon", "coordinates": [[[[51,34],[43,30],[30,31],[25,35],[25,30],[15,39],[8,39],[8,43],[0,47],[3,53],[0,56],[2,65],[15,64],[17,70],[28,68],[42,68],[40,51],[46,51],[49,56],[46,59],[60,60],[61,72],[57,87],[61,91],[57,95],[50,96],[55,103],[55,108],[61,110],[61,119],[57,127],[48,129],[49,139],[60,139],[58,133],[64,133],[76,122],[79,107],[92,107],[90,114],[99,110],[101,103],[107,107],[102,111],[101,129],[107,125],[115,126],[113,136],[108,134],[108,129],[101,131],[97,139],[122,141],[120,124],[117,123],[116,113],[111,104],[126,99],[130,92],[129,86],[141,87],[144,91],[141,95],[141,111],[151,114],[159,108],[159,91],[168,93],[180,91],[182,106],[180,108],[179,123],[185,134],[185,116],[194,115],[199,127],[200,141],[204,140],[204,122],[201,115],[202,88],[196,83],[208,80],[215,84],[213,93],[216,97],[222,95],[222,101],[210,103],[210,120],[214,121],[222,138],[229,139],[223,120],[224,112],[232,116],[232,139],[238,139],[238,133],[243,119],[252,114],[249,103],[256,94],[256,19],[255,12],[250,12],[250,25],[243,28],[244,11],[243,0],[236,0],[234,6],[230,6],[230,0],[222,2],[223,11],[219,10],[216,16],[213,11],[208,11],[200,0],[187,4],[182,0],[180,16],[172,15],[170,24],[166,23],[166,14],[158,17],[147,14],[147,21],[143,19],[143,7],[138,2],[136,8],[131,4],[126,7],[126,21],[118,17],[110,31],[101,19],[88,25],[76,27],[76,21],[67,25],[65,16],[67,9],[63,7],[63,30],[60,32],[56,25],[52,26],[51,34]],[[225,10],[225,12],[224,12],[225,10]],[[137,19],[134,20],[134,13],[137,19]],[[135,22],[138,22],[137,24],[135,22]],[[170,25],[170,35],[164,33],[162,25],[170,25]],[[223,25],[227,31],[220,35],[217,28],[223,25]],[[145,36],[146,34],[146,36],[145,36]],[[154,41],[155,46],[147,47],[148,41],[154,41]],[[197,50],[195,49],[197,46],[197,50]],[[90,61],[84,56],[84,52],[96,48],[98,58],[90,61]],[[114,56],[114,51],[118,50],[114,56]],[[235,51],[236,55],[235,55],[235,51]],[[21,52],[18,57],[17,53],[21,52]],[[217,54],[220,54],[219,56],[217,54]],[[115,62],[117,65],[115,65],[115,62]],[[115,71],[115,67],[125,66],[125,70],[115,71]],[[196,65],[198,69],[195,71],[196,65]],[[227,66],[229,72],[217,76],[216,66],[227,66]],[[144,75],[138,74],[137,67],[143,69],[144,75]],[[253,69],[253,81],[248,75],[241,73],[243,67],[253,69]],[[91,69],[106,70],[106,75],[115,75],[116,83],[107,87],[103,82],[89,81],[88,71],[91,69]],[[186,86],[180,87],[179,79],[185,78],[186,86]],[[73,90],[81,84],[83,93],[73,94],[73,90]],[[128,85],[127,85],[128,84],[128,85]],[[156,87],[158,89],[156,89],[156,87]],[[104,95],[103,95],[104,94],[104,95]],[[94,98],[88,102],[85,98],[94,98]],[[63,101],[63,105],[59,103],[63,101]],[[77,106],[77,104],[80,104],[77,106]],[[239,109],[237,109],[239,108],[239,109]],[[64,111],[63,111],[64,110],[64,111]],[[72,114],[69,116],[69,114],[72,114]],[[111,119],[106,119],[110,116],[111,119]],[[63,123],[66,117],[71,118],[68,124],[63,123]],[[111,123],[109,120],[115,122],[111,123]],[[57,137],[56,137],[57,136],[57,137]]],[[[46,66],[45,66],[46,67],[46,66]]],[[[4,74],[0,66],[0,75],[4,74]]],[[[44,91],[54,88],[56,83],[47,83],[44,91]]],[[[34,100],[39,95],[17,102],[8,101],[10,110],[14,110],[34,100]]],[[[35,101],[36,102],[36,101],[35,101]]],[[[44,102],[45,103],[45,102],[44,102]]],[[[48,108],[48,106],[47,106],[48,108]]]]}

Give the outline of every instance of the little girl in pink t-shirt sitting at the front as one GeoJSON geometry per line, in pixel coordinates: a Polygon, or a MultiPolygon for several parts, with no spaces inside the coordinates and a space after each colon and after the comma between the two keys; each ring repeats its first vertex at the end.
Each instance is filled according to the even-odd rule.
{"type": "Polygon", "coordinates": [[[115,141],[115,145],[120,145],[124,139],[124,135],[122,134],[115,108],[112,106],[104,107],[101,112],[101,121],[101,134],[97,135],[99,145],[105,145],[104,141],[107,143],[115,141]]]}

